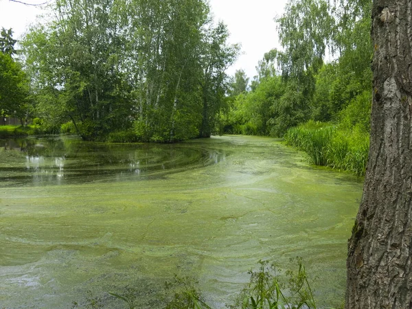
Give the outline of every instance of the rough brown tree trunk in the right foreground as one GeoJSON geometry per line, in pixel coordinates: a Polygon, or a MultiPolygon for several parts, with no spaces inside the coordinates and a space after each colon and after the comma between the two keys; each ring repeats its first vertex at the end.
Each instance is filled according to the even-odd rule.
{"type": "Polygon", "coordinates": [[[374,100],[345,308],[412,308],[412,1],[374,0],[374,100]]]}

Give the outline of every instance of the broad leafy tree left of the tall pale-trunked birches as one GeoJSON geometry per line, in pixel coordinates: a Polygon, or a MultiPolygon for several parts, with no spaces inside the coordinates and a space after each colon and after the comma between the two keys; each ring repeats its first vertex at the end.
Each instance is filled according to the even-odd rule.
{"type": "Polygon", "coordinates": [[[130,126],[119,4],[58,0],[58,18],[23,42],[43,116],[71,119],[84,139],[130,126]]]}

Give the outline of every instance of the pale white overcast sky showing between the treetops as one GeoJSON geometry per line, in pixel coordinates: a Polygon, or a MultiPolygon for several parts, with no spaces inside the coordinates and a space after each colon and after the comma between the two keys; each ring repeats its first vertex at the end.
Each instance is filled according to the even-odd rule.
{"type": "MultiPolygon", "coordinates": [[[[46,0],[22,0],[27,3],[43,3],[46,0]]],[[[264,53],[279,47],[276,25],[273,18],[282,14],[286,0],[209,0],[216,21],[224,21],[231,33],[230,43],[242,45],[242,55],[229,68],[233,75],[237,69],[244,69],[247,76],[253,78],[255,67],[264,53]]],[[[14,30],[14,37],[19,38],[36,15],[42,10],[34,7],[0,0],[0,27],[14,30]]]]}

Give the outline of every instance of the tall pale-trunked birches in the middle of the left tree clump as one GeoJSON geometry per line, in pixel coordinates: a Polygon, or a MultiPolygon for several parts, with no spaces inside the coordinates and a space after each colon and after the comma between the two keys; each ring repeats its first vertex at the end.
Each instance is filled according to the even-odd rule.
{"type": "Polygon", "coordinates": [[[209,7],[200,0],[135,1],[128,70],[137,102],[135,126],[145,140],[196,137],[198,80],[209,7]]]}

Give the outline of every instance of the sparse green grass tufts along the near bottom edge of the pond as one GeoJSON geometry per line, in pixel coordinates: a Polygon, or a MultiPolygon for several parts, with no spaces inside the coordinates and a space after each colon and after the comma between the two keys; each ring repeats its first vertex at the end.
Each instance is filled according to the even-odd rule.
{"type": "MultiPolygon", "coordinates": [[[[236,297],[230,309],[317,309],[314,293],[301,258],[297,259],[298,271],[283,273],[268,261],[259,261],[257,271],[249,271],[249,284],[236,297]],[[286,280],[285,280],[286,279],[286,280]]],[[[166,282],[163,306],[165,309],[212,309],[201,292],[196,289],[196,282],[189,277],[175,276],[166,282]]],[[[123,293],[108,293],[121,301],[124,308],[143,308],[138,305],[139,293],[133,288],[125,288],[123,293]]],[[[98,297],[89,297],[82,304],[73,303],[72,308],[104,308],[98,297]]]]}

